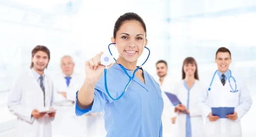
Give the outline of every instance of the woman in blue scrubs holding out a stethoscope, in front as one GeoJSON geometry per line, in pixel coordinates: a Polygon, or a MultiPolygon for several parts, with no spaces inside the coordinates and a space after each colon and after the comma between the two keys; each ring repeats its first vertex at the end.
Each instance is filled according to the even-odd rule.
{"type": "MultiPolygon", "coordinates": [[[[117,62],[126,69],[135,70],[137,59],[148,42],[143,19],[135,13],[120,16],[111,41],[116,43],[119,53],[117,62]]],[[[162,137],[163,98],[159,84],[140,68],[122,98],[113,101],[105,90],[102,54],[85,63],[86,78],[76,93],[76,115],[104,110],[107,137],[162,137]]],[[[133,71],[127,72],[132,76],[133,71]]],[[[128,81],[129,77],[118,64],[108,66],[107,85],[111,96],[119,97],[128,81]]]]}

